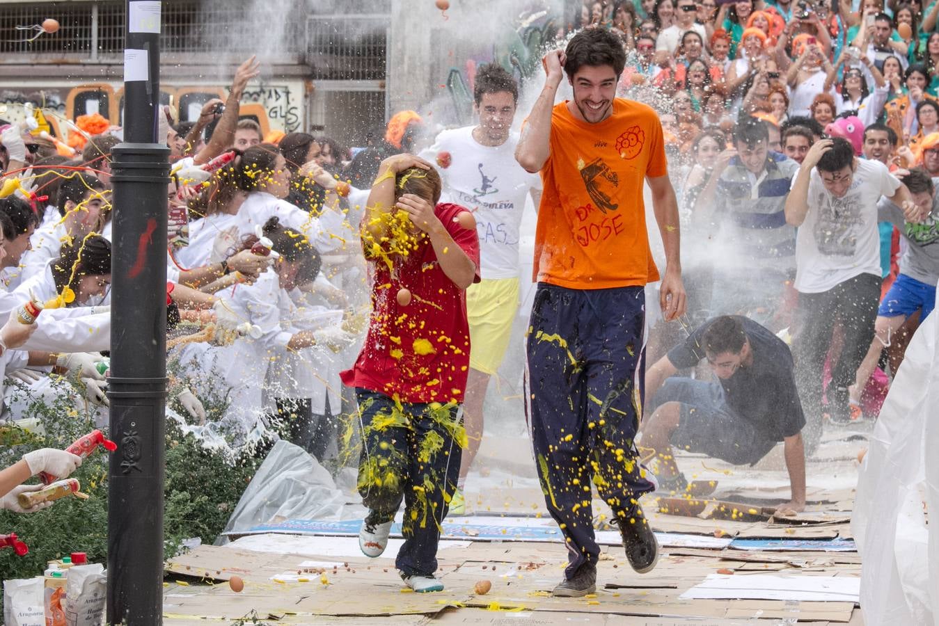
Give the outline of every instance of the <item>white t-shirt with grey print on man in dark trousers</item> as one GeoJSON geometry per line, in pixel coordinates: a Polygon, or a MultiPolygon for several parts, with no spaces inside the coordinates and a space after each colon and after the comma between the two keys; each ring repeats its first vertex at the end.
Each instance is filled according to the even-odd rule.
{"type": "MultiPolygon", "coordinates": [[[[808,213],[795,237],[795,289],[819,294],[861,274],[881,275],[877,203],[900,188],[879,160],[855,159],[851,187],[840,198],[818,169],[808,182],[808,213]]],[[[793,177],[793,185],[796,177],[793,177]]]]}

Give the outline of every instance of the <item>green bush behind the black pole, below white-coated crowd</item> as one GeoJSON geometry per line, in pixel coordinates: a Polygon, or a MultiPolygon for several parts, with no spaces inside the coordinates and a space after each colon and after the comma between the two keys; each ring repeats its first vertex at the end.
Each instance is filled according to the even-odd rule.
{"type": "MultiPolygon", "coordinates": [[[[12,425],[0,426],[0,466],[16,463],[29,450],[65,449],[95,429],[94,411],[68,381],[56,387],[53,403],[30,402],[23,418],[38,418],[44,435],[12,425]],[[76,408],[83,407],[83,408],[76,408]]],[[[171,391],[170,397],[175,393],[171,391]]],[[[224,404],[207,402],[209,419],[221,417],[224,404]]],[[[101,429],[107,435],[106,429],[101,429]]],[[[183,540],[198,537],[211,543],[221,533],[270,441],[240,454],[204,450],[192,435],[183,435],[175,420],[166,420],[166,481],[163,492],[165,555],[177,554],[183,540]]],[[[29,546],[29,554],[0,551],[4,579],[41,575],[47,562],[85,552],[90,562],[107,563],[108,454],[100,450],[85,459],[72,477],[81,481],[87,500],[65,497],[52,507],[29,514],[0,511],[0,534],[15,532],[29,546]]],[[[2,602],[2,599],[0,599],[2,602]]]]}

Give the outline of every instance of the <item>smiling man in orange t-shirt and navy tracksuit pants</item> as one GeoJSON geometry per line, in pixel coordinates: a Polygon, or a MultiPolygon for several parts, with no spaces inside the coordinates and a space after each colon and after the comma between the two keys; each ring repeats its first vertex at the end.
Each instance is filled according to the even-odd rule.
{"type": "Polygon", "coordinates": [[[516,160],[541,172],[545,188],[535,233],[527,397],[547,509],[569,551],[554,594],[581,597],[595,590],[600,552],[592,480],[615,514],[633,568],[649,572],[658,558],[639,507],[654,482],[639,466],[634,441],[642,413],[644,286],[659,280],[643,181],[665,244],[660,306],[667,320],[685,313],[685,289],[662,127],[650,107],[614,98],[625,65],[619,39],[588,28],[565,51],[547,53],[543,64],[546,84],[516,148],[516,160]],[[554,105],[564,72],[574,99],[554,105]]]}

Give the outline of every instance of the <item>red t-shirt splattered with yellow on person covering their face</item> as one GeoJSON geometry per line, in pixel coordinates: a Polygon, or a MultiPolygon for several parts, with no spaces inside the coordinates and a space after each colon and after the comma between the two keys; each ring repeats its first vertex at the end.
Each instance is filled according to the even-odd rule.
{"type": "MultiPolygon", "coordinates": [[[[476,233],[454,221],[463,206],[438,205],[434,212],[454,242],[479,267],[476,233]]],[[[434,247],[423,236],[417,250],[396,257],[394,270],[373,260],[372,316],[362,352],[340,373],[348,387],[361,387],[405,403],[462,403],[469,369],[466,291],[444,273],[434,247]],[[407,288],[410,301],[400,304],[407,288]]],[[[479,282],[477,271],[475,280],[479,282]]]]}

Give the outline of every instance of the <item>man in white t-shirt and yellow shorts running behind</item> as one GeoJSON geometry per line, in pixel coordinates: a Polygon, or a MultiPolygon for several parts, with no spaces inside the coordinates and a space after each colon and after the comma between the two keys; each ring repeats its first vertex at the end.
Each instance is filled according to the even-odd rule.
{"type": "Polygon", "coordinates": [[[483,277],[467,289],[470,353],[463,420],[469,444],[451,515],[465,511],[463,487],[483,437],[485,389],[505,356],[518,310],[518,230],[526,196],[531,193],[534,206],[541,197],[541,176],[523,170],[515,158],[515,79],[497,64],[485,65],[476,72],[473,98],[479,125],[444,130],[421,155],[440,166],[440,201],[472,211],[483,277]]]}

